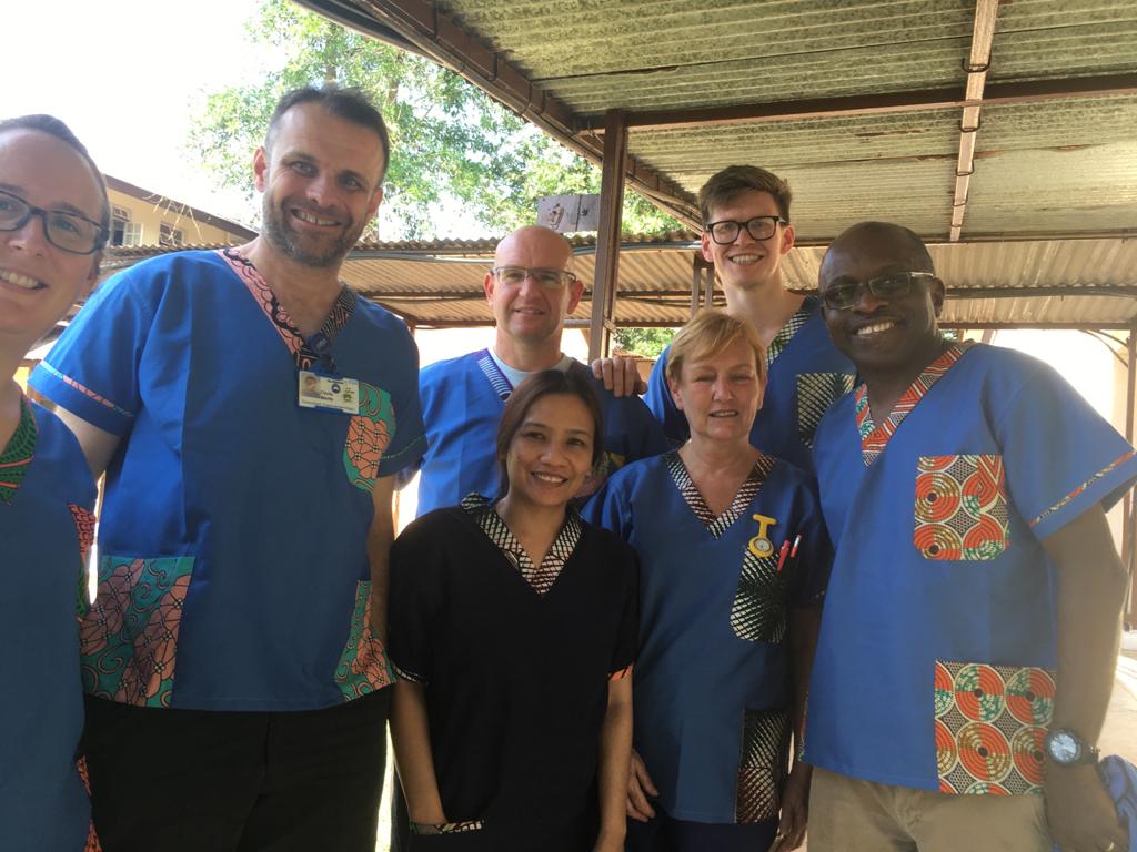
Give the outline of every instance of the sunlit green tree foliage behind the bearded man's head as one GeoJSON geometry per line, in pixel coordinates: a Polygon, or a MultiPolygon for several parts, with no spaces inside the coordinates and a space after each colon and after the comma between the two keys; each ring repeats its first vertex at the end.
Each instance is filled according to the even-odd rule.
{"type": "MultiPolygon", "coordinates": [[[[247,31],[250,45],[281,57],[280,67],[255,85],[207,93],[189,145],[218,183],[248,193],[250,212],[251,154],[277,99],[327,82],[365,90],[383,111],[393,149],[384,208],[404,236],[462,236],[435,226],[440,207],[455,201],[479,229],[505,233],[534,220],[541,195],[599,192],[596,167],[428,59],[288,0],[265,0],[247,31]]],[[[625,233],[681,227],[631,193],[623,222],[625,233]]]]}

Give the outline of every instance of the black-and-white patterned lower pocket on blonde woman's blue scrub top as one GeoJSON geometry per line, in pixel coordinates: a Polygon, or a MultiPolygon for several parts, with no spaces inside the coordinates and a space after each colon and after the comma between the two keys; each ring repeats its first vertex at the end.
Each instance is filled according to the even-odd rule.
{"type": "Polygon", "coordinates": [[[763,822],[778,816],[788,768],[789,713],[747,710],[735,788],[736,822],[763,822]]]}

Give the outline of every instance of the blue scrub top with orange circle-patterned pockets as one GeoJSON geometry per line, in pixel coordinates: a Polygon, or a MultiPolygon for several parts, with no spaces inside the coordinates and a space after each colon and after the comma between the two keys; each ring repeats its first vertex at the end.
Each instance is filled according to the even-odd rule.
{"type": "Polygon", "coordinates": [[[1041,542],[1137,477],[1124,440],[1049,367],[955,345],[886,423],[864,387],[818,429],[837,549],[805,758],[944,793],[1041,792],[1056,663],[1041,542]]]}

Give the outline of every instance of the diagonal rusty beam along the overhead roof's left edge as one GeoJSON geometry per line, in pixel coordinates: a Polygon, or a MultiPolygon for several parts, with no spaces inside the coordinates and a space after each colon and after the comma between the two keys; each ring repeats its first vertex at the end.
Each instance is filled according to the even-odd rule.
{"type": "MultiPolygon", "coordinates": [[[[345,19],[345,7],[363,10],[350,16],[350,25],[375,39],[416,52],[451,68],[495,100],[549,133],[562,144],[597,165],[603,165],[604,142],[596,134],[579,134],[580,117],[558,98],[531,83],[501,53],[463,30],[430,0],[297,0],[314,11],[345,19]],[[371,18],[371,23],[365,19],[371,18]]],[[[632,187],[692,228],[702,228],[698,204],[679,184],[631,154],[624,172],[632,187]]]]}

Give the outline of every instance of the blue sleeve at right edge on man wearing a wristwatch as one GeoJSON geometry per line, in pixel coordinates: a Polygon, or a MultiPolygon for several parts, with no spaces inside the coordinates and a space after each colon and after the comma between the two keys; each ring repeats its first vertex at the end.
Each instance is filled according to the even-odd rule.
{"type": "Polygon", "coordinates": [[[1041,541],[1132,487],[1137,458],[1053,368],[1037,364],[995,423],[1011,502],[1041,541]]]}

